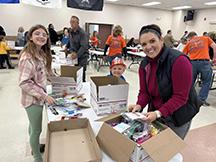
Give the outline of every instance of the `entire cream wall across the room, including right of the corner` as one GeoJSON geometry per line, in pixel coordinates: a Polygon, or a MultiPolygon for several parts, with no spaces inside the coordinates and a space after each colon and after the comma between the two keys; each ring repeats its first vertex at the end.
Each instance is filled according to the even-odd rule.
{"type": "Polygon", "coordinates": [[[0,5],[0,25],[2,25],[8,35],[16,35],[19,26],[25,30],[34,24],[48,26],[53,23],[56,30],[61,30],[64,26],[69,26],[71,15],[80,18],[80,24],[84,27],[85,22],[119,24],[124,29],[127,39],[138,38],[138,32],[143,25],[156,23],[162,28],[163,35],[168,29],[173,31],[175,39],[180,39],[185,30],[196,31],[202,34],[210,31],[210,22],[215,22],[216,10],[203,9],[196,10],[193,21],[183,22],[186,11],[165,11],[156,9],[146,9],[132,6],[117,6],[105,4],[102,12],[84,11],[66,7],[63,1],[61,9],[45,9],[24,4],[0,5]],[[206,18],[206,21],[204,20],[206,18]]]}

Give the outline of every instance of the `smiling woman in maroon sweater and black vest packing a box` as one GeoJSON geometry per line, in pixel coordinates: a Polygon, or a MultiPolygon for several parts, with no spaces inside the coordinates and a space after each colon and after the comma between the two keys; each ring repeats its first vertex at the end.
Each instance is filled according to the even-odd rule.
{"type": "Polygon", "coordinates": [[[190,60],[164,45],[161,29],[155,24],[143,26],[139,40],[146,57],[139,67],[137,102],[128,109],[142,112],[148,105],[143,120],[160,120],[184,139],[201,105],[192,84],[190,60]]]}

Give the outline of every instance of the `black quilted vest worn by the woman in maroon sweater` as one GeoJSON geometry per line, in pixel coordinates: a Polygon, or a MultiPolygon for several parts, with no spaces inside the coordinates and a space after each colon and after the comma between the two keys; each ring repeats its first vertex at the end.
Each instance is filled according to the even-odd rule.
{"type": "MultiPolygon", "coordinates": [[[[167,102],[173,92],[172,88],[172,78],[171,78],[171,72],[172,72],[172,65],[174,61],[182,55],[181,52],[168,48],[163,47],[162,54],[160,58],[158,59],[158,67],[157,67],[157,83],[159,88],[160,96],[163,100],[163,102],[167,102]]],[[[184,55],[187,57],[186,55],[184,55]]],[[[187,57],[188,58],[188,57],[187,57]]],[[[149,63],[148,59],[145,57],[143,61],[141,62],[141,67],[145,68],[145,66],[149,63]]],[[[145,70],[144,70],[145,71],[145,70]]],[[[145,73],[145,72],[144,72],[145,73]]],[[[145,76],[146,74],[144,74],[145,76]]],[[[184,78],[182,78],[184,79],[184,78]]],[[[187,83],[185,83],[187,84],[187,83]]],[[[145,83],[147,86],[147,83],[145,83]]],[[[148,89],[148,88],[147,88],[148,89]]],[[[172,115],[171,119],[175,126],[181,126],[188,121],[190,121],[198,112],[199,108],[201,106],[201,102],[197,97],[196,91],[194,86],[191,87],[188,101],[185,105],[180,107],[178,110],[176,110],[172,115]]],[[[154,107],[151,104],[151,101],[149,103],[149,109],[155,110],[154,107]]],[[[165,119],[165,118],[164,118],[165,119]]]]}

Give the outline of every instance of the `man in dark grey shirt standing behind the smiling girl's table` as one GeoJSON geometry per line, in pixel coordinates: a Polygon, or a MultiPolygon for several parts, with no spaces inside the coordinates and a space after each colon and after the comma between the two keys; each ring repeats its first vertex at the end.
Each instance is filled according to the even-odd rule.
{"type": "Polygon", "coordinates": [[[83,67],[83,82],[86,81],[86,66],[89,57],[88,52],[88,36],[86,32],[79,26],[79,18],[71,16],[71,30],[69,31],[69,55],[72,60],[77,59],[76,66],[83,67]]]}

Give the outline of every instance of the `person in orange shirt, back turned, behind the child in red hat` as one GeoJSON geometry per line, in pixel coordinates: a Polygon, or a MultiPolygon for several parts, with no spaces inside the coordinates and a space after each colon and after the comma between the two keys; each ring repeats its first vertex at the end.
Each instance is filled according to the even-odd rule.
{"type": "Polygon", "coordinates": [[[108,48],[109,53],[107,58],[110,65],[112,64],[112,60],[114,58],[122,58],[122,53],[124,53],[125,56],[127,55],[126,42],[122,37],[122,27],[120,25],[115,26],[113,34],[107,38],[104,48],[104,56],[106,56],[108,48]]]}

